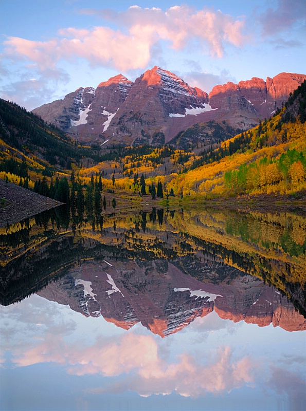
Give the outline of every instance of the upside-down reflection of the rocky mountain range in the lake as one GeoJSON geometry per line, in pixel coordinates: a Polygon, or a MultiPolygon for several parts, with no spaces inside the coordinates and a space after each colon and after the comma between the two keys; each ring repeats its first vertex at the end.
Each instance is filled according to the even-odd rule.
{"type": "MultiPolygon", "coordinates": [[[[188,270],[188,259],[181,263],[188,270]]],[[[207,278],[216,275],[214,266],[205,266],[207,278]]],[[[233,269],[229,270],[232,275],[233,269]]],[[[163,260],[83,264],[38,294],[85,316],[102,315],[124,329],[140,322],[161,337],[212,310],[234,322],[273,323],[288,331],[306,328],[304,318],[287,299],[256,277],[237,275],[218,285],[204,283],[163,260]]]]}

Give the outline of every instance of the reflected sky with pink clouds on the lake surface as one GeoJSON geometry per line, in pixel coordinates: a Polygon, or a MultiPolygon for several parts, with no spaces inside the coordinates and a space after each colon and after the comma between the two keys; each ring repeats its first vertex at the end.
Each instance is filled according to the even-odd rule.
{"type": "Polygon", "coordinates": [[[34,294],[0,314],[1,409],[303,409],[305,331],[211,312],[162,339],[34,294]]]}

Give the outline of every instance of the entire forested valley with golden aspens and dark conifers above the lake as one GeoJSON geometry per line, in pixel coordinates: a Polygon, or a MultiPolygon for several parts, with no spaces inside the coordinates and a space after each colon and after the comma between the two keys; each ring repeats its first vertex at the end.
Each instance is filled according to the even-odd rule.
{"type": "Polygon", "coordinates": [[[245,195],[299,199],[306,192],[305,107],[306,82],[271,119],[228,140],[222,141],[232,132],[226,126],[212,122],[210,140],[201,124],[193,126],[175,142],[188,145],[201,135],[204,140],[194,150],[183,150],[84,146],[0,100],[0,178],[64,202],[79,196],[100,206],[103,192],[183,202],[245,195]]]}

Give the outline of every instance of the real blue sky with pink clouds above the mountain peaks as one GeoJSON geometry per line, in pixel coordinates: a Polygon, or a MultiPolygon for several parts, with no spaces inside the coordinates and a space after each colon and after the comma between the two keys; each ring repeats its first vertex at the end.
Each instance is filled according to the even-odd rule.
{"type": "Polygon", "coordinates": [[[155,65],[209,92],[306,73],[305,0],[0,1],[0,98],[27,109],[155,65]]]}

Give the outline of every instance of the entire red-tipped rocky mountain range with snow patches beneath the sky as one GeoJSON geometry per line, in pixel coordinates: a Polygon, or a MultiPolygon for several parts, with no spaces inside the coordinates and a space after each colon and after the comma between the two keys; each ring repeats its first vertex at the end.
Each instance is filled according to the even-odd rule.
{"type": "Polygon", "coordinates": [[[305,74],[283,72],[266,81],[254,77],[217,85],[208,94],[155,66],[134,83],[118,74],[33,113],[80,141],[161,145],[175,143],[178,133],[198,123],[231,126],[232,135],[253,127],[271,117],[304,80],[305,74]]]}

